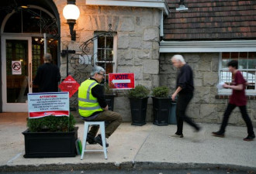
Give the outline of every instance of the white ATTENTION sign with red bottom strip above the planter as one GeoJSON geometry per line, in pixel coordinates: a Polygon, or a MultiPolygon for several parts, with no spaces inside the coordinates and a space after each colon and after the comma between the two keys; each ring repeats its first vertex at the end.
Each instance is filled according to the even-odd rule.
{"type": "Polygon", "coordinates": [[[29,118],[69,116],[68,92],[29,93],[29,118]]]}

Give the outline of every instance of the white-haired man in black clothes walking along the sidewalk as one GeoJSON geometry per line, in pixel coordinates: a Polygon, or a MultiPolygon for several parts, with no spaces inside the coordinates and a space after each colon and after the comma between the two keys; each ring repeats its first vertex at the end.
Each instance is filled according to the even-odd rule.
{"type": "Polygon", "coordinates": [[[193,91],[194,91],[194,81],[193,81],[193,72],[191,67],[187,63],[182,55],[175,55],[171,57],[171,63],[174,67],[178,68],[180,71],[176,80],[176,90],[175,93],[171,95],[172,101],[175,101],[175,98],[178,95],[177,104],[176,104],[176,118],[177,118],[177,131],[172,137],[183,138],[183,121],[195,128],[196,132],[199,132],[201,128],[196,125],[191,118],[186,114],[186,108],[189,105],[189,102],[192,100],[193,91]]]}

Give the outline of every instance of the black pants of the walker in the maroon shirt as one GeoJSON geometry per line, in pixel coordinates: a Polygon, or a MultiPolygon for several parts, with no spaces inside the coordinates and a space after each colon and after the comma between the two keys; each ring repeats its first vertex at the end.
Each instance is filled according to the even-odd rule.
{"type": "MultiPolygon", "coordinates": [[[[232,113],[232,111],[234,110],[234,108],[236,108],[237,106],[235,104],[228,104],[227,105],[227,109],[224,113],[224,117],[223,117],[223,121],[220,127],[220,132],[224,133],[225,132],[225,128],[227,127],[227,121],[230,118],[230,114],[232,113]]],[[[252,126],[251,123],[251,119],[249,118],[247,111],[246,111],[246,105],[244,106],[240,106],[240,113],[242,114],[242,117],[247,125],[247,133],[248,135],[254,135],[254,128],[252,126]]]]}

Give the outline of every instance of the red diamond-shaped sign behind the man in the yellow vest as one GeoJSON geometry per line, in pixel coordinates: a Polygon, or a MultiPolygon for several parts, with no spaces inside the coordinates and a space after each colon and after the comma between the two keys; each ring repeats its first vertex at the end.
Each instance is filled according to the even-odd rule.
{"type": "Polygon", "coordinates": [[[59,88],[62,91],[69,92],[69,97],[72,97],[72,95],[78,90],[78,87],[80,87],[80,84],[78,84],[71,75],[67,76],[67,78],[65,78],[65,80],[63,80],[59,85],[59,88]]]}

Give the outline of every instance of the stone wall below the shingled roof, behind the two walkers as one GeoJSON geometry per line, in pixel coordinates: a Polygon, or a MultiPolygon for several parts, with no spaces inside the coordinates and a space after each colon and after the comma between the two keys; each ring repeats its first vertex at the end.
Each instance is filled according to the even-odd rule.
{"type": "MultiPolygon", "coordinates": [[[[175,91],[177,70],[171,65],[171,56],[176,53],[161,53],[160,55],[160,85],[175,91]]],[[[178,53],[181,54],[181,53],[178,53]]],[[[216,84],[218,83],[219,53],[182,53],[185,61],[192,67],[194,73],[195,93],[189,104],[188,115],[197,122],[221,123],[228,99],[216,99],[216,84]]],[[[256,101],[249,100],[247,111],[255,123],[256,101]]],[[[245,125],[237,107],[230,116],[231,125],[245,125]]]]}

